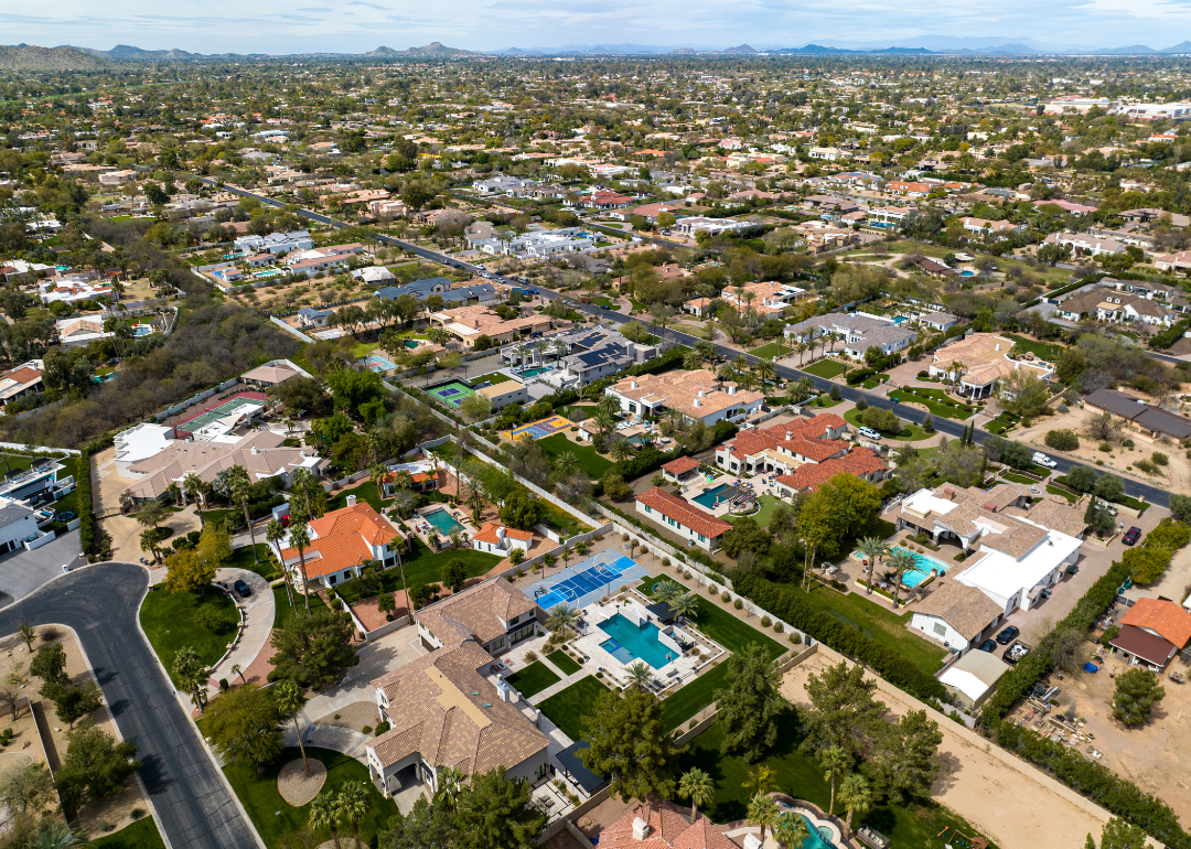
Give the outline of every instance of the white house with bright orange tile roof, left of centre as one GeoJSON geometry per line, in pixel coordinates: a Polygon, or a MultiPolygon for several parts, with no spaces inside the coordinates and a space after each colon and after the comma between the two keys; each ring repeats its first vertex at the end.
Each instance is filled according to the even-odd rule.
{"type": "Polygon", "coordinates": [[[397,566],[399,549],[406,545],[400,531],[355,495],[348,495],[348,506],[311,519],[307,527],[311,538],[301,551],[292,547],[289,533],[272,543],[294,586],[307,593],[357,578],[372,561],[380,561],[382,569],[397,566]]]}

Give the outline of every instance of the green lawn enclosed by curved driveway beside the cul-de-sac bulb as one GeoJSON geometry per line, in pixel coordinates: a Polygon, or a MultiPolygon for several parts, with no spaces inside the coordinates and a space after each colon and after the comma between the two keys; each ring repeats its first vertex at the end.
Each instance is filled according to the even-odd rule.
{"type": "MultiPolygon", "coordinates": [[[[141,628],[149,637],[162,666],[173,678],[174,656],[179,649],[192,648],[207,666],[224,656],[227,643],[236,633],[236,604],[222,589],[208,587],[206,593],[172,593],[164,587],[157,587],[145,595],[141,605],[141,628]],[[211,631],[194,622],[200,610],[224,613],[230,624],[218,631],[211,631]]],[[[177,683],[176,681],[174,682],[177,683]]]]}

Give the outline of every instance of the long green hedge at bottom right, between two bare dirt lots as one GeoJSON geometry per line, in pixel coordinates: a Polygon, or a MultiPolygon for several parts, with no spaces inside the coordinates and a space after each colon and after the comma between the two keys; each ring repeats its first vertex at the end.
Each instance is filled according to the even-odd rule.
{"type": "Polygon", "coordinates": [[[1046,739],[1028,728],[1008,722],[997,728],[996,741],[997,745],[1048,770],[1059,781],[1108,809],[1110,813],[1141,826],[1146,834],[1171,849],[1191,847],[1191,837],[1179,825],[1170,805],[1149,795],[1133,781],[1116,775],[1108,767],[1089,761],[1078,749],[1046,739]]]}

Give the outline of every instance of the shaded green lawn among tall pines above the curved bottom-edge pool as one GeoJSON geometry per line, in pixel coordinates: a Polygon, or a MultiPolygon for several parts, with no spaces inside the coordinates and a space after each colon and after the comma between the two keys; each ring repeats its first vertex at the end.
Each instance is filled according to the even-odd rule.
{"type": "MultiPolygon", "coordinates": [[[[691,743],[678,769],[682,773],[698,766],[711,775],[716,784],[716,795],[710,805],[700,810],[712,822],[730,823],[747,816],[749,791],[744,782],[749,770],[756,769],[757,764],[774,770],[780,792],[827,810],[831,788],[823,780],[823,769],[818,762],[798,750],[803,733],[794,711],[782,716],[777,747],[757,763],[746,763],[738,755],[721,755],[723,739],[723,728],[719,724],[712,725],[691,743]]],[[[935,836],[947,825],[960,829],[969,837],[979,834],[946,807],[931,803],[881,805],[853,822],[854,828],[861,825],[877,829],[896,847],[941,847],[942,842],[935,839],[935,836]]]]}

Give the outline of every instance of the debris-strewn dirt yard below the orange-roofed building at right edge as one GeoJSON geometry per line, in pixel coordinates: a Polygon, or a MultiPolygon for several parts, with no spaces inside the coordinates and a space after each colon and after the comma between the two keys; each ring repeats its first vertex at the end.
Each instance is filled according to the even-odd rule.
{"type": "MultiPolygon", "coordinates": [[[[1087,648],[1090,655],[1095,647],[1087,648]]],[[[1111,675],[1128,668],[1117,656],[1109,657],[1095,675],[1079,673],[1074,680],[1068,676],[1059,695],[1059,710],[1066,711],[1074,701],[1077,714],[1087,718],[1084,731],[1096,735],[1093,744],[1104,753],[1100,763],[1156,795],[1186,823],[1191,818],[1191,778],[1183,757],[1191,745],[1191,683],[1165,679],[1166,698],[1154,706],[1151,720],[1127,729],[1112,718],[1116,681],[1111,675]]],[[[1178,658],[1167,668],[1172,670],[1191,675],[1187,664],[1178,658]]]]}

